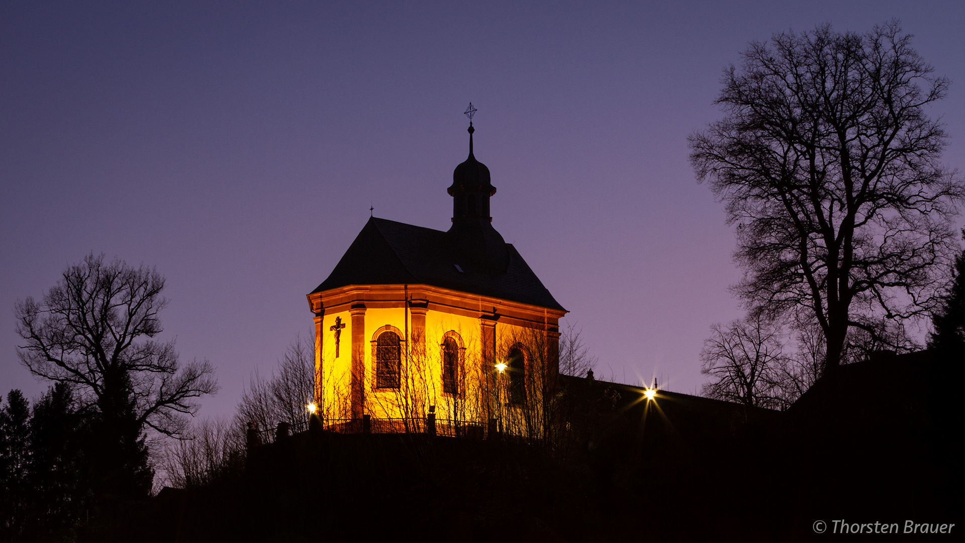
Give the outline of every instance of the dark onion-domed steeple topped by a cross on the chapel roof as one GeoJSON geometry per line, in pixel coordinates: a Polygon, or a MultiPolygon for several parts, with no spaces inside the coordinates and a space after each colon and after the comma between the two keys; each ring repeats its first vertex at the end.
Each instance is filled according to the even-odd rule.
{"type": "Polygon", "coordinates": [[[473,155],[473,114],[469,104],[469,157],[455,166],[453,185],[447,189],[453,197],[453,227],[449,234],[477,264],[492,270],[506,271],[509,253],[506,241],[492,227],[489,216],[489,197],[496,187],[489,181],[489,168],[473,155]]]}

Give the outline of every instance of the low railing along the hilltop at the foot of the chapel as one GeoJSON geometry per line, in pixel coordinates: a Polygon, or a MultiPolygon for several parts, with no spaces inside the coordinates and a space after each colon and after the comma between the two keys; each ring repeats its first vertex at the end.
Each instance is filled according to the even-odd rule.
{"type": "MultiPolygon", "coordinates": [[[[374,418],[364,415],[361,418],[324,418],[317,419],[321,430],[337,434],[429,434],[448,438],[470,440],[490,439],[496,432],[494,421],[488,424],[474,420],[455,418],[374,418]]],[[[307,420],[295,423],[280,422],[274,428],[259,430],[250,428],[249,445],[275,443],[294,434],[309,429],[307,420]]]]}

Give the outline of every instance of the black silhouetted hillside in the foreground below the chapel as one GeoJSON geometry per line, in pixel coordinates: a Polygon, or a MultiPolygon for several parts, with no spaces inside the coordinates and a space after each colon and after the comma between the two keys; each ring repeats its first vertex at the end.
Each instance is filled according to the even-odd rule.
{"type": "Polygon", "coordinates": [[[662,391],[648,403],[636,387],[568,378],[582,402],[566,448],[306,432],[210,484],[165,489],[135,524],[156,541],[786,541],[830,536],[840,519],[958,529],[961,373],[928,352],[849,364],[784,413],[662,391]]]}

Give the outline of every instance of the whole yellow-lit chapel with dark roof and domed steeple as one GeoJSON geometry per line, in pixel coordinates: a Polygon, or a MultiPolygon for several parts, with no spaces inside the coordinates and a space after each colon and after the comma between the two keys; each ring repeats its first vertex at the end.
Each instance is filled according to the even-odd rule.
{"type": "Polygon", "coordinates": [[[372,217],[308,295],[322,420],[544,426],[534,407],[555,387],[566,311],[493,228],[473,132],[449,231],[372,217]]]}

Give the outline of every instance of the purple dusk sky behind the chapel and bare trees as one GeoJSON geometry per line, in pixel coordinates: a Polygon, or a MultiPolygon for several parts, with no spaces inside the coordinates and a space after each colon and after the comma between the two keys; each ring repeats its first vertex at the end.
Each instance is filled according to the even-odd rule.
{"type": "Polygon", "coordinates": [[[965,166],[960,1],[145,4],[0,5],[0,394],[46,387],[17,361],[14,301],[93,250],[167,277],[165,337],[217,367],[202,414],[231,414],[311,329],[305,295],[370,203],[449,228],[470,100],[493,225],[598,375],[684,392],[708,327],[740,315],[686,137],[748,42],[898,17],[953,81],[932,114],[965,166]]]}

